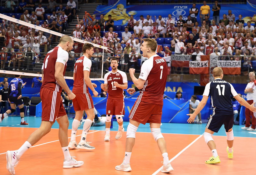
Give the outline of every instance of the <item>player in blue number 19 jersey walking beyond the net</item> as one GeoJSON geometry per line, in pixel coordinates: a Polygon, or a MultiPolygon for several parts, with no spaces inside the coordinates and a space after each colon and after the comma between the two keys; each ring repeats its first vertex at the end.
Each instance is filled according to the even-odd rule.
{"type": "Polygon", "coordinates": [[[23,106],[23,100],[21,99],[21,86],[23,84],[23,81],[20,79],[20,75],[15,75],[15,79],[12,79],[10,82],[9,90],[8,90],[8,101],[11,104],[11,109],[8,109],[5,113],[0,114],[0,123],[4,119],[4,117],[7,117],[8,114],[15,112],[16,105],[20,109],[20,117],[21,122],[20,125],[28,125],[24,121],[24,106],[23,106]]]}

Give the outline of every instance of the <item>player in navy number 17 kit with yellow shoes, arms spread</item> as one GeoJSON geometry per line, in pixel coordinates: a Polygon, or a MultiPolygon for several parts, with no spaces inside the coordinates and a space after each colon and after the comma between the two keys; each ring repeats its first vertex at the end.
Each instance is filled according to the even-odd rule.
{"type": "Polygon", "coordinates": [[[234,141],[234,134],[232,127],[234,121],[234,111],[230,95],[232,95],[241,105],[247,107],[252,112],[256,111],[256,108],[253,107],[253,104],[250,105],[243,98],[241,98],[229,82],[222,80],[223,71],[220,67],[215,67],[213,69],[213,77],[214,80],[209,82],[205,86],[203,99],[197,106],[195,112],[193,114],[187,114],[188,116],[190,116],[187,120],[188,123],[194,122],[195,117],[204,108],[209,98],[209,95],[211,95],[213,113],[204,131],[204,140],[212,151],[212,157],[210,157],[209,160],[205,161],[205,163],[207,164],[220,163],[220,159],[216,150],[216,145],[214,140],[212,139],[212,134],[218,133],[219,129],[223,124],[227,135],[228,158],[233,158],[232,147],[234,141]]]}

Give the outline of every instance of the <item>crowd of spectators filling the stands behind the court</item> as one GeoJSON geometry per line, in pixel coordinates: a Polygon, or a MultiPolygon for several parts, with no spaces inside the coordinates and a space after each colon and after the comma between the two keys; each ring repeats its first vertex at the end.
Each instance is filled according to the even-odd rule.
{"type": "MultiPolygon", "coordinates": [[[[33,0],[27,3],[24,0],[20,2],[18,8],[18,12],[22,12],[20,20],[56,32],[66,31],[72,20],[72,15],[76,14],[76,4],[73,0],[69,0],[66,7],[58,6],[54,0],[49,1],[47,8],[43,8],[41,3],[38,4],[38,7],[33,4],[33,0]]],[[[12,12],[12,1],[8,1],[6,5],[5,10],[12,12]]],[[[111,15],[108,15],[106,21],[103,15],[100,15],[100,19],[96,19],[95,15],[84,15],[83,19],[79,19],[79,16],[76,15],[77,25],[70,34],[78,39],[115,48],[114,55],[108,52],[104,54],[103,62],[107,69],[111,57],[119,60],[119,65],[124,71],[132,67],[139,67],[145,59],[140,54],[143,38],[164,41],[158,43],[156,52],[160,56],[191,55],[191,60],[200,61],[202,55],[214,55],[219,56],[218,58],[221,60],[243,60],[242,68],[252,69],[251,61],[255,60],[255,57],[252,56],[256,55],[256,34],[254,24],[251,24],[256,21],[254,16],[251,21],[245,23],[242,15],[239,15],[237,19],[232,11],[228,10],[227,14],[220,17],[220,11],[221,5],[218,4],[218,1],[215,1],[212,9],[204,1],[200,9],[193,4],[189,10],[190,15],[187,18],[180,15],[177,21],[172,18],[171,14],[168,15],[167,20],[162,15],[158,15],[158,18],[154,16],[154,20],[150,15],[147,15],[146,18],[140,15],[138,20],[130,15],[124,31],[120,30],[120,26],[114,24],[111,15]],[[211,11],[213,20],[209,20],[211,11]],[[105,33],[103,33],[104,23],[105,33]]],[[[51,49],[51,42],[57,40],[49,33],[38,32],[36,29],[19,26],[6,20],[2,20],[0,39],[2,38],[5,40],[4,44],[0,46],[1,48],[5,47],[2,49],[2,53],[22,52],[21,56],[16,54],[17,58],[9,61],[8,66],[11,63],[14,64],[13,70],[20,69],[20,62],[25,61],[28,47],[30,47],[33,59],[37,59],[40,52],[47,52],[51,49]],[[16,64],[18,64],[17,67],[15,67],[16,64]]],[[[69,53],[71,60],[74,61],[80,57],[81,46],[82,43],[74,43],[74,49],[69,53]]],[[[102,64],[102,49],[95,48],[94,52],[92,63],[95,70],[98,70],[102,64]]],[[[1,58],[1,60],[5,60],[5,58],[1,58]]],[[[1,64],[1,68],[4,68],[3,64],[1,64]]]]}

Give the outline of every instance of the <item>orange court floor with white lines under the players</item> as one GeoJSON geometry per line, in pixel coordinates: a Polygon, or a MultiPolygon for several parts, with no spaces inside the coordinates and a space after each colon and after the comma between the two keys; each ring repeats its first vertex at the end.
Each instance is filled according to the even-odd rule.
{"type": "MultiPolygon", "coordinates": [[[[0,175],[8,175],[6,151],[17,150],[27,137],[37,128],[0,127],[0,175]]],[[[71,130],[69,130],[70,136],[71,130]]],[[[82,130],[77,131],[79,142],[82,130]]],[[[111,131],[111,140],[104,142],[104,130],[91,130],[87,141],[95,150],[70,150],[76,160],[84,161],[82,167],[63,169],[63,153],[58,139],[58,129],[52,129],[38,143],[23,154],[15,168],[16,175],[155,175],[161,173],[162,156],[151,133],[137,132],[131,156],[131,172],[115,170],[123,161],[126,132],[120,140],[115,140],[116,131],[111,131]]],[[[245,175],[255,173],[253,165],[256,155],[256,138],[235,137],[234,158],[228,159],[226,136],[213,136],[221,163],[205,164],[211,152],[203,135],[164,133],[169,160],[177,175],[245,175]]]]}

